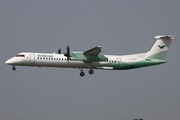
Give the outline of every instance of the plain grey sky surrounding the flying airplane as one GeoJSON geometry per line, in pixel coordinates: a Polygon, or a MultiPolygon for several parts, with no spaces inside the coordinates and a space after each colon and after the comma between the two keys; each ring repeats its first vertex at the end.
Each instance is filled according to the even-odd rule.
{"type": "Polygon", "coordinates": [[[1,120],[177,120],[180,118],[179,0],[0,1],[1,120]],[[103,46],[103,54],[146,52],[175,35],[167,63],[128,71],[17,67],[19,52],[103,46]],[[87,73],[88,71],[85,70],[87,73]]]}

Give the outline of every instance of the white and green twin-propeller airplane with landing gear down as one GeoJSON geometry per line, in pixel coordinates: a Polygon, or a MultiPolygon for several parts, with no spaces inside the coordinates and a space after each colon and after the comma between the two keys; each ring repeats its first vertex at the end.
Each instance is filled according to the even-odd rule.
{"type": "Polygon", "coordinates": [[[12,65],[13,71],[16,70],[15,66],[79,68],[80,76],[83,77],[83,69],[89,69],[89,74],[93,74],[94,69],[128,70],[166,63],[165,56],[174,36],[158,35],[155,39],[154,45],[146,53],[104,55],[101,53],[102,46],[85,52],[70,52],[70,47],[67,46],[65,54],[61,54],[61,49],[58,53],[22,52],[7,60],[5,64],[12,65]]]}

